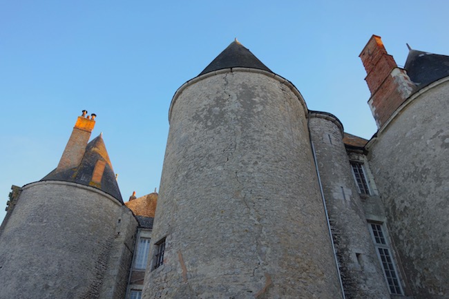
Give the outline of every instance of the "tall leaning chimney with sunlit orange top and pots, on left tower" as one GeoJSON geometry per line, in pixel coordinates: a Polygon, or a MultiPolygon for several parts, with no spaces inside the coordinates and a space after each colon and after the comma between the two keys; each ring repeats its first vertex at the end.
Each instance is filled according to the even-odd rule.
{"type": "Polygon", "coordinates": [[[70,168],[75,168],[81,163],[84,152],[86,151],[86,145],[90,138],[90,133],[95,126],[95,114],[92,115],[92,119],[89,116],[86,117],[87,111],[83,110],[82,116],[79,116],[75,127],[73,128],[72,135],[68,139],[66,149],[62,154],[61,160],[56,168],[57,172],[66,171],[70,168]]]}

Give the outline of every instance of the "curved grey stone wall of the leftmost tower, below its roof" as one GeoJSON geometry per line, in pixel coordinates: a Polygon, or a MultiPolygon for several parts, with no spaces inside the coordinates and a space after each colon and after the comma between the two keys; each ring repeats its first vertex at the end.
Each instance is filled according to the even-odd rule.
{"type": "Polygon", "coordinates": [[[0,298],[99,298],[120,206],[75,183],[23,186],[0,235],[0,298]]]}

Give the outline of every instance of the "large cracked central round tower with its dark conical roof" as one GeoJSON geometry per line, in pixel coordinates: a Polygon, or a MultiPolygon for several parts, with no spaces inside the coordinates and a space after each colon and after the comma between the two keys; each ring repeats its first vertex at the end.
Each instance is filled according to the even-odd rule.
{"type": "Polygon", "coordinates": [[[143,298],[341,298],[307,113],[238,41],[178,90],[143,298]]]}

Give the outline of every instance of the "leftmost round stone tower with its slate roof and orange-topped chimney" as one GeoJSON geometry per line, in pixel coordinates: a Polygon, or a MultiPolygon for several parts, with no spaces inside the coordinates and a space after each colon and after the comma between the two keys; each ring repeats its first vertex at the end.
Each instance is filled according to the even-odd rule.
{"type": "MultiPolygon", "coordinates": [[[[122,238],[123,203],[102,136],[87,143],[94,124],[78,117],[57,168],[23,186],[8,210],[0,233],[0,281],[8,286],[1,299],[113,298],[106,293],[116,284],[106,282],[106,269],[122,238]]],[[[116,275],[126,289],[127,272],[116,275]]]]}

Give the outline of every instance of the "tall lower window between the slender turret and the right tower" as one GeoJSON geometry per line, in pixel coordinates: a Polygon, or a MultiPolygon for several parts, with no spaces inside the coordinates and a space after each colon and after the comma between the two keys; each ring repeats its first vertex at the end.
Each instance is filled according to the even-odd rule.
{"type": "Polygon", "coordinates": [[[377,256],[382,264],[385,280],[387,280],[390,293],[402,295],[401,282],[397,275],[396,267],[392,254],[390,253],[390,246],[388,246],[387,238],[383,230],[382,224],[370,223],[371,236],[374,241],[374,247],[376,247],[377,256]]]}

